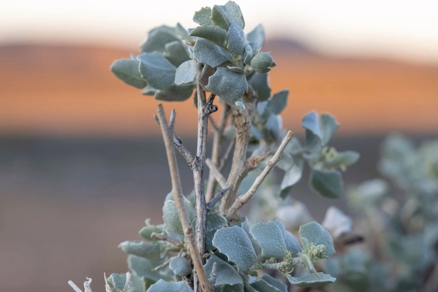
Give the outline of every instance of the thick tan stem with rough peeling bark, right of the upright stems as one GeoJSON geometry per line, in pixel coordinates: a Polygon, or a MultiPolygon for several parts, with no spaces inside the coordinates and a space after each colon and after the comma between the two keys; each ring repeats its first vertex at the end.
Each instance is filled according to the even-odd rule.
{"type": "Polygon", "coordinates": [[[245,109],[232,109],[231,116],[234,120],[234,127],[236,127],[236,146],[234,148],[233,162],[231,164],[230,175],[228,176],[227,185],[232,185],[228,193],[225,194],[221,202],[221,213],[225,213],[234,200],[236,199],[237,190],[240,183],[245,178],[243,175],[247,148],[251,133],[251,120],[257,109],[257,96],[251,89],[248,90],[247,103],[245,103],[245,109]]]}

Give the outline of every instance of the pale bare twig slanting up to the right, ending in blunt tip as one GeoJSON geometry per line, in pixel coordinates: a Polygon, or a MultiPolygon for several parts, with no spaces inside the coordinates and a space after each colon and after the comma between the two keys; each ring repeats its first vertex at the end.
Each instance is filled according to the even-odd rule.
{"type": "Polygon", "coordinates": [[[251,199],[251,197],[257,191],[258,187],[265,180],[266,176],[268,176],[269,172],[274,168],[276,163],[279,162],[281,154],[283,153],[284,148],[286,148],[286,145],[292,137],[292,134],[293,132],[291,130],[287,132],[286,137],[284,137],[283,142],[281,142],[280,144],[280,147],[277,149],[274,156],[272,156],[272,158],[268,162],[266,162],[265,169],[263,169],[261,174],[257,176],[250,189],[246,193],[238,197],[233,205],[226,211],[227,217],[231,217],[234,213],[236,213],[237,210],[240,209],[240,207],[242,207],[247,201],[249,201],[249,199],[251,199]]]}

